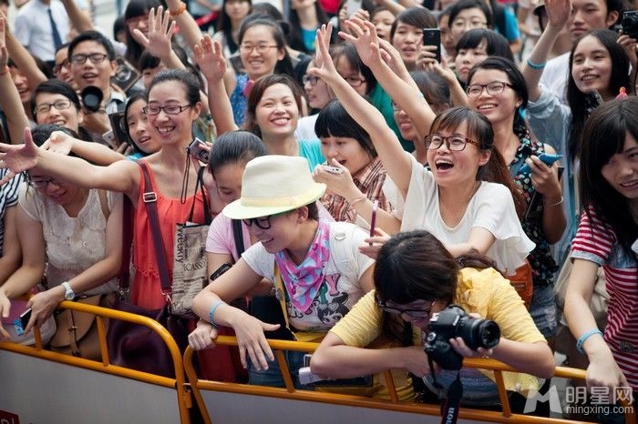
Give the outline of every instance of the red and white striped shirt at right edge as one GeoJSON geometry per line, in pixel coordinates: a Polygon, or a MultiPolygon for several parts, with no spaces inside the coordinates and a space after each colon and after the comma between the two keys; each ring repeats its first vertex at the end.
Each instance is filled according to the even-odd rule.
{"type": "Polygon", "coordinates": [[[617,243],[612,227],[590,209],[581,215],[571,257],[602,266],[609,293],[604,338],[623,374],[638,390],[638,260],[617,243]]]}

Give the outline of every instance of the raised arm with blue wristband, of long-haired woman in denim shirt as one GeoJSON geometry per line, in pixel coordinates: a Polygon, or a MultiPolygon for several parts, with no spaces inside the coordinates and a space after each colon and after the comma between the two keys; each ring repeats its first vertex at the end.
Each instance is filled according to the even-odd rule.
{"type": "Polygon", "coordinates": [[[540,35],[539,41],[536,42],[536,45],[531,50],[530,57],[520,69],[525,77],[525,84],[532,102],[535,102],[540,97],[540,76],[542,76],[543,68],[547,63],[547,58],[550,56],[551,46],[554,45],[562,26],[570,17],[571,0],[547,0],[545,2],[545,10],[547,11],[549,23],[545,31],[540,35]]]}

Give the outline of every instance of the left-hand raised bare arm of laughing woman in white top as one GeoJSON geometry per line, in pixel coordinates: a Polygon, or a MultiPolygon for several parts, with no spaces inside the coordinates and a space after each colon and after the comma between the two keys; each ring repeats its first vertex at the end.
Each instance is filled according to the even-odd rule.
{"type": "MultiPolygon", "coordinates": [[[[386,125],[386,120],[381,115],[381,112],[368,103],[364,97],[359,96],[355,89],[336,72],[332,58],[328,53],[331,31],[332,25],[323,25],[317,31],[317,50],[314,57],[314,66],[309,67],[307,73],[319,76],[333,89],[334,96],[339,99],[346,112],[363,126],[372,138],[376,152],[386,168],[387,175],[392,178],[396,187],[402,193],[406,193],[412,172],[410,159],[406,156],[406,152],[401,147],[395,133],[386,125]]],[[[376,44],[375,51],[376,55],[379,55],[378,44],[376,44]]]]}

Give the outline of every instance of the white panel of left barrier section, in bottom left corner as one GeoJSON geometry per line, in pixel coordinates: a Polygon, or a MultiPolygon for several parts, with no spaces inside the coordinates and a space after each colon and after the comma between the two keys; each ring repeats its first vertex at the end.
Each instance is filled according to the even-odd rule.
{"type": "Polygon", "coordinates": [[[0,423],[89,422],[179,423],[175,389],[0,350],[0,423]]]}

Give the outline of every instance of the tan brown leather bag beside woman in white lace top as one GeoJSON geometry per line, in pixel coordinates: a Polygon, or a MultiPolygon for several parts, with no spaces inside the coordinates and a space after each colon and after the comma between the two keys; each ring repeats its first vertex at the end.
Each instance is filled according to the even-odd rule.
{"type": "MultiPolygon", "coordinates": [[[[77,302],[112,308],[115,297],[115,293],[108,293],[80,298],[77,302]]],[[[60,309],[55,314],[55,318],[57,330],[50,341],[51,350],[74,357],[100,360],[98,323],[95,315],[77,312],[77,310],[60,309]]],[[[105,324],[108,326],[106,318],[105,324]]]]}

